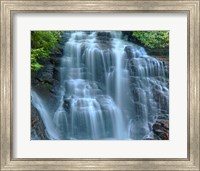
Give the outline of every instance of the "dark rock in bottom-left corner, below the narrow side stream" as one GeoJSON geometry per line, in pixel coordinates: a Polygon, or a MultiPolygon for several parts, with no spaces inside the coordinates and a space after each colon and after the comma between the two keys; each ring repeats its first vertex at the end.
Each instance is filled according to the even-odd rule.
{"type": "Polygon", "coordinates": [[[31,139],[48,140],[46,127],[37,109],[31,104],[31,139]]]}

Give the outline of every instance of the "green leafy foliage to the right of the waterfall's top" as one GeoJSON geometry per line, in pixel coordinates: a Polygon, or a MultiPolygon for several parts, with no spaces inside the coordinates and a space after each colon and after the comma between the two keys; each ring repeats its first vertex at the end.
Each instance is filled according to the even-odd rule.
{"type": "Polygon", "coordinates": [[[150,49],[169,47],[168,31],[134,31],[132,35],[150,49]]]}

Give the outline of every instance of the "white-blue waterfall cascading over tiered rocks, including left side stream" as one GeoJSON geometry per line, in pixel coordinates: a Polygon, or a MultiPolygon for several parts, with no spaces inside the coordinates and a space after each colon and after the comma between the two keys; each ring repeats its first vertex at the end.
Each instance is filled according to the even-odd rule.
{"type": "Polygon", "coordinates": [[[58,69],[53,117],[32,91],[50,139],[143,139],[156,116],[168,115],[164,63],[122,40],[120,32],[65,34],[70,38],[58,69]]]}

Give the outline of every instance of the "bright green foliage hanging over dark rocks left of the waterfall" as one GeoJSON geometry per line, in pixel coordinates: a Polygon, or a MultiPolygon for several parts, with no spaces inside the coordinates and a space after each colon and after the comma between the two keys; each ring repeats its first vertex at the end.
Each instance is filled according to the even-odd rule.
{"type": "Polygon", "coordinates": [[[31,69],[39,70],[40,59],[48,58],[52,48],[61,39],[61,31],[32,31],[31,32],[31,69]]]}

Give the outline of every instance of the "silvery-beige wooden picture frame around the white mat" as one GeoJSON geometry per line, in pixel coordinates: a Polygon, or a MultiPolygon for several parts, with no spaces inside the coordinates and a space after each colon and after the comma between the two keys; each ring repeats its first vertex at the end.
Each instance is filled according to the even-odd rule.
{"type": "Polygon", "coordinates": [[[199,0],[1,2],[1,170],[199,170],[199,0]],[[17,13],[187,13],[187,158],[13,158],[13,16],[17,13]]]}

